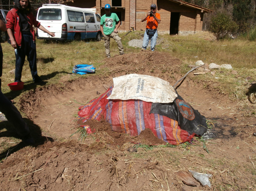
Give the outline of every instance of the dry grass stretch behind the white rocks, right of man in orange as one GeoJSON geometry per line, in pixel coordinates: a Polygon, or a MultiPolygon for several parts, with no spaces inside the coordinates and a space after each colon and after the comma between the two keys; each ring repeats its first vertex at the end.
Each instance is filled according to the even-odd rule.
{"type": "Polygon", "coordinates": [[[162,35],[165,44],[157,46],[157,50],[171,51],[172,55],[181,60],[188,60],[187,64],[202,60],[204,63],[218,65],[231,64],[233,68],[254,68],[255,41],[241,39],[216,41],[213,38],[197,35],[169,36],[162,35]]]}

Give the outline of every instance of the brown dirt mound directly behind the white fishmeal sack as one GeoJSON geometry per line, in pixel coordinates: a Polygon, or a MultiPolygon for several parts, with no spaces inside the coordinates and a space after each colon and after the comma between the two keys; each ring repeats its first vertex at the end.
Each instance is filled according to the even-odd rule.
{"type": "MultiPolygon", "coordinates": [[[[173,82],[180,75],[181,61],[170,54],[157,51],[141,51],[140,53],[124,54],[106,58],[100,69],[107,68],[105,76],[118,77],[136,73],[159,77],[168,82],[173,82]]],[[[171,83],[172,84],[172,83],[171,83]]]]}

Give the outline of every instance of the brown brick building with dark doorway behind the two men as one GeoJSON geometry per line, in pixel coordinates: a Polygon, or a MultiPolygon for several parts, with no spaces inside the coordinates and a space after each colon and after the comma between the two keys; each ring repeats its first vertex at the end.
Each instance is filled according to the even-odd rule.
{"type": "Polygon", "coordinates": [[[170,34],[202,31],[204,13],[212,12],[181,0],[52,0],[52,3],[96,8],[100,15],[105,14],[104,5],[109,3],[111,11],[116,13],[121,21],[119,30],[125,31],[131,28],[144,30],[146,22],[141,22],[141,18],[150,11],[150,5],[155,3],[157,13],[161,16],[158,31],[170,31],[170,34]]]}

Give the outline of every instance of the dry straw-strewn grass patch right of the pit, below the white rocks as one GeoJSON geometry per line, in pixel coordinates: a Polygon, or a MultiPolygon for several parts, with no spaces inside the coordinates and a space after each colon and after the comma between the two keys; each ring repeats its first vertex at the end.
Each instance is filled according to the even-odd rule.
{"type": "MultiPolygon", "coordinates": [[[[236,69],[236,68],[234,68],[236,69]]],[[[196,83],[211,91],[215,96],[227,95],[230,102],[238,104],[232,108],[236,113],[242,111],[243,116],[250,117],[256,114],[255,89],[250,91],[252,82],[256,80],[256,69],[236,69],[237,73],[232,74],[230,70],[215,70],[215,75],[207,73],[200,76],[190,76],[196,83]],[[250,95],[253,95],[250,100],[250,95]]]]}

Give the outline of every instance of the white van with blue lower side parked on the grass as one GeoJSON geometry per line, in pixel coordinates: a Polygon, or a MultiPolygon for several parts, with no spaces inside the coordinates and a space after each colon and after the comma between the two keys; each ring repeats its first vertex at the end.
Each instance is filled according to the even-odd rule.
{"type": "Polygon", "coordinates": [[[37,29],[38,39],[46,40],[101,40],[100,15],[93,8],[79,8],[61,4],[43,4],[37,20],[55,37],[37,29]]]}

